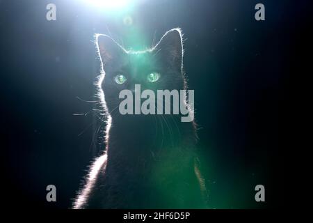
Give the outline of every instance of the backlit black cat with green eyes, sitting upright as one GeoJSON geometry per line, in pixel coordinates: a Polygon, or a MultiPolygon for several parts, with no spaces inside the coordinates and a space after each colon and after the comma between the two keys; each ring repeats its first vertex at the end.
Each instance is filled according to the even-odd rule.
{"type": "MultiPolygon", "coordinates": [[[[123,89],[185,90],[180,29],[152,49],[132,52],[98,35],[104,73],[99,96],[108,117],[106,151],[97,158],[74,208],[206,208],[195,123],[181,114],[122,115],[123,89]]],[[[188,107],[188,102],[184,101],[188,107]]]]}

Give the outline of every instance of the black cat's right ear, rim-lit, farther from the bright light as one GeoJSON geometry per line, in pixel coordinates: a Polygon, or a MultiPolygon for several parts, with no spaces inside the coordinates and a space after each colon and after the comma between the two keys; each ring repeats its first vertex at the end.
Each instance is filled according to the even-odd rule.
{"type": "Polygon", "coordinates": [[[160,42],[154,47],[154,50],[160,53],[163,58],[170,63],[170,66],[182,68],[183,59],[183,40],[180,29],[171,29],[161,38],[160,42]]]}

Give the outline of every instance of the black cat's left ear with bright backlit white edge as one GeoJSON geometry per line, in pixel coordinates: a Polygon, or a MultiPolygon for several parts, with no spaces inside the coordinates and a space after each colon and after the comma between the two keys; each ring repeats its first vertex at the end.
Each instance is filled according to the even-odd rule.
{"type": "Polygon", "coordinates": [[[123,49],[118,43],[115,42],[115,40],[109,36],[98,34],[96,36],[96,40],[97,49],[103,64],[112,61],[113,59],[117,59],[119,56],[125,53],[125,49],[123,49]]]}

